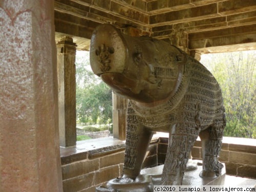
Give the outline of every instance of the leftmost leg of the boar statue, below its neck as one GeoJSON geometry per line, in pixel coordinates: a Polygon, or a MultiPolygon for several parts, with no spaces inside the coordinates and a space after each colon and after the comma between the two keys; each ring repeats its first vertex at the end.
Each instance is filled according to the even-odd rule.
{"type": "Polygon", "coordinates": [[[140,174],[148,144],[153,132],[147,130],[137,119],[131,106],[127,110],[126,147],[122,178],[136,179],[140,174]]]}

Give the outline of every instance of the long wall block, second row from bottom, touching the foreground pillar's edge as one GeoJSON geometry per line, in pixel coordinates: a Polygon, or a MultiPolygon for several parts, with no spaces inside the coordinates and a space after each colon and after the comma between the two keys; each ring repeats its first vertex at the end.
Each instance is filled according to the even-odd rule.
{"type": "Polygon", "coordinates": [[[90,172],[94,172],[99,169],[99,160],[84,160],[77,161],[71,164],[62,165],[62,179],[69,179],[77,176],[81,176],[84,174],[88,174],[90,172]]]}

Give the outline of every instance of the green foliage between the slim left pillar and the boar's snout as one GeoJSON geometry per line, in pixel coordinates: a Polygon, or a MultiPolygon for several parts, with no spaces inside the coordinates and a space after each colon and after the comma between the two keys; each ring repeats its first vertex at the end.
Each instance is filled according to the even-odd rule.
{"type": "Polygon", "coordinates": [[[93,74],[89,55],[76,57],[76,117],[77,122],[110,123],[112,121],[112,91],[93,74]]]}

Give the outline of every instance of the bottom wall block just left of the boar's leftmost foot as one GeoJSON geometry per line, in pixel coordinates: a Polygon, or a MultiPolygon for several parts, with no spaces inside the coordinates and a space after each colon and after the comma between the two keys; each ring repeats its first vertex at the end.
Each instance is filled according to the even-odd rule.
{"type": "Polygon", "coordinates": [[[95,185],[109,181],[116,177],[120,177],[118,165],[101,168],[95,173],[95,185]]]}

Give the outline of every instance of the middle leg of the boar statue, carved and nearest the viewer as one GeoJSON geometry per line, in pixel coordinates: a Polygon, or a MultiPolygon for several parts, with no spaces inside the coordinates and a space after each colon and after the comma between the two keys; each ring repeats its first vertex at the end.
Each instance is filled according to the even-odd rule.
{"type": "MultiPolygon", "coordinates": [[[[191,134],[188,125],[179,123],[169,133],[161,185],[181,185],[191,148],[199,133],[191,134]]],[[[196,129],[194,129],[196,130],[196,129]]]]}

